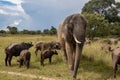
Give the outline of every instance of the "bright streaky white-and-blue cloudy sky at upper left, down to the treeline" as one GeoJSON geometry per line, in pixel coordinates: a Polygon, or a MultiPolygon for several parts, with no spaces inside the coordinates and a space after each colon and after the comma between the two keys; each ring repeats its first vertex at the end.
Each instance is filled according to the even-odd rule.
{"type": "Polygon", "coordinates": [[[0,22],[1,29],[4,29],[8,25],[15,25],[16,27],[21,28],[19,25],[23,25],[24,21],[27,23],[28,20],[29,21],[31,20],[30,16],[26,14],[22,7],[22,3],[24,2],[23,0],[2,0],[2,1],[4,2],[0,4],[0,17],[1,17],[0,20],[2,21],[0,22]]]}

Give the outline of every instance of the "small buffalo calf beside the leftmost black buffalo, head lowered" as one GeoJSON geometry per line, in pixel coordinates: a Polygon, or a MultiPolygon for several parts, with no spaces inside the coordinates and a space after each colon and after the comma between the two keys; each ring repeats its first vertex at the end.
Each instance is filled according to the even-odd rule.
{"type": "Polygon", "coordinates": [[[30,58],[31,58],[31,53],[28,50],[22,50],[20,52],[20,59],[18,60],[18,62],[20,63],[20,67],[24,63],[28,69],[30,66],[30,58]]]}

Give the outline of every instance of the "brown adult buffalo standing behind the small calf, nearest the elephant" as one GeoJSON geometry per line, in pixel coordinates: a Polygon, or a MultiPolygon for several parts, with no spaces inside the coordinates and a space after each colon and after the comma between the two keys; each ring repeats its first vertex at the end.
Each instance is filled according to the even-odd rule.
{"type": "Polygon", "coordinates": [[[47,49],[57,49],[59,50],[61,48],[60,43],[59,42],[37,42],[35,44],[35,54],[37,56],[38,50],[40,51],[44,51],[47,49]]]}

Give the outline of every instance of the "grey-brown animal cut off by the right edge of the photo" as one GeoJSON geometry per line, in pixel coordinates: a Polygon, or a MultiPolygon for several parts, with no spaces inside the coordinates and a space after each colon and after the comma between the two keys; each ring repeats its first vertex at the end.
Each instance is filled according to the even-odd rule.
{"type": "Polygon", "coordinates": [[[112,51],[112,66],[114,70],[114,78],[116,78],[118,64],[120,65],[120,47],[117,47],[111,51],[112,51]]]}

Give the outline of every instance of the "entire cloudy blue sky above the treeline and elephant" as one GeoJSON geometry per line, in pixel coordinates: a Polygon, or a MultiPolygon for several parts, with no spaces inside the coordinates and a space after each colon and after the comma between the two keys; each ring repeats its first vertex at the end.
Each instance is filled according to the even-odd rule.
{"type": "Polygon", "coordinates": [[[58,27],[65,17],[80,13],[89,0],[0,0],[0,29],[19,30],[58,27]]]}

